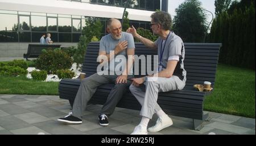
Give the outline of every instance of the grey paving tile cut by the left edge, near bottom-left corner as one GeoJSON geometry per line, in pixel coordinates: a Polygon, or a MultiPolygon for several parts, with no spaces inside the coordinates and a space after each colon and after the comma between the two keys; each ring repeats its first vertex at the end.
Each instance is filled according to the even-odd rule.
{"type": "Polygon", "coordinates": [[[28,124],[27,122],[24,122],[23,120],[20,120],[15,116],[8,115],[2,116],[0,118],[0,126],[5,128],[6,130],[16,130],[19,128],[31,127],[31,124],[28,124]]]}

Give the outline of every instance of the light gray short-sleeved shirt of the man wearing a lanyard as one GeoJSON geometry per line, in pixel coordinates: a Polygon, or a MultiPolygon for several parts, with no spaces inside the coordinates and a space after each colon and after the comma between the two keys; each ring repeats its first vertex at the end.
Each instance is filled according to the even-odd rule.
{"type": "Polygon", "coordinates": [[[183,63],[185,59],[185,48],[181,38],[175,35],[174,32],[170,32],[170,35],[167,37],[165,42],[161,37],[158,37],[155,44],[158,46],[158,62],[159,65],[162,66],[162,70],[166,69],[170,56],[179,55],[179,62],[177,62],[173,75],[179,77],[181,81],[185,82],[187,75],[183,63]]]}

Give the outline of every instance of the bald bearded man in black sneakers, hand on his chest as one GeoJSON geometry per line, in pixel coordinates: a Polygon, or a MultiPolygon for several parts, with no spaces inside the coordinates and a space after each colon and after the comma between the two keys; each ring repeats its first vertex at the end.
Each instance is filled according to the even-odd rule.
{"type": "Polygon", "coordinates": [[[99,57],[97,59],[101,62],[101,65],[106,66],[105,70],[103,73],[101,70],[99,72],[97,70],[97,73],[81,81],[73,103],[72,113],[65,116],[65,118],[59,118],[60,122],[82,123],[83,112],[97,87],[103,84],[115,84],[98,115],[100,125],[108,126],[108,116],[113,114],[115,106],[122,98],[122,95],[126,90],[129,90],[131,81],[127,79],[132,78],[130,74],[132,72],[133,59],[127,60],[128,57],[134,56],[134,38],[131,34],[122,32],[121,22],[118,19],[109,19],[107,30],[110,34],[101,38],[99,57]],[[125,59],[126,61],[119,62],[120,59],[125,59]],[[105,62],[102,60],[105,60],[105,62]],[[122,65],[122,72],[120,72],[120,68],[115,69],[119,64],[122,65]]]}

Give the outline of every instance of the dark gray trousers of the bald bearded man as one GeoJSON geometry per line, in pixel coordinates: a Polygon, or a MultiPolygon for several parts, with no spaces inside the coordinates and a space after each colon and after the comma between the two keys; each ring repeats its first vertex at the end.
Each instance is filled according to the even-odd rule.
{"type": "MultiPolygon", "coordinates": [[[[76,98],[72,108],[72,115],[76,116],[77,118],[81,118],[83,112],[86,109],[88,101],[90,100],[90,98],[92,98],[98,86],[103,84],[115,84],[117,77],[118,76],[115,75],[100,76],[95,73],[88,78],[84,78],[84,80],[81,81],[79,90],[76,94],[76,98]]],[[[131,76],[128,76],[127,78],[131,78],[131,76]]],[[[131,81],[128,80],[127,84],[115,84],[113,89],[110,91],[104,106],[101,109],[101,114],[106,114],[108,116],[113,114],[115,106],[120,101],[123,94],[126,93],[130,85],[131,81]]]]}

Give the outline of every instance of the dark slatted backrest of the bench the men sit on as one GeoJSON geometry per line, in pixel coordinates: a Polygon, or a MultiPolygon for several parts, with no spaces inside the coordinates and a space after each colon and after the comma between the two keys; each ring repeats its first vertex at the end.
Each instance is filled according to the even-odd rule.
{"type": "MultiPolygon", "coordinates": [[[[91,42],[87,46],[82,72],[86,77],[96,73],[97,57],[100,42],[91,42]]],[[[186,86],[203,84],[204,81],[214,85],[218,52],[221,44],[215,43],[184,43],[185,59],[184,68],[187,71],[186,86]]],[[[157,55],[157,51],[146,48],[142,43],[135,43],[135,55],[157,55]]]]}

